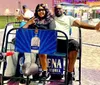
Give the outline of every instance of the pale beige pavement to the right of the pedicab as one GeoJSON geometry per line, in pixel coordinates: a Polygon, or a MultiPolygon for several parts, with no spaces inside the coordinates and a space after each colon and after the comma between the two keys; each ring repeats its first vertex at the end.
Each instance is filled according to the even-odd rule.
{"type": "MultiPolygon", "coordinates": [[[[74,35],[77,32],[74,30],[74,35]]],[[[0,31],[0,47],[3,30],[0,31]]],[[[100,45],[100,33],[82,29],[82,42],[100,45]]],[[[82,44],[82,85],[100,85],[100,47],[82,44]]],[[[74,85],[78,85],[75,83],[74,85]]]]}

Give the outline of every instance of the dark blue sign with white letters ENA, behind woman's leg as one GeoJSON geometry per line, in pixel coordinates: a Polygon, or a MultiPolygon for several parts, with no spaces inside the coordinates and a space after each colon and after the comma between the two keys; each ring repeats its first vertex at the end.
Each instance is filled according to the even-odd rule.
{"type": "MultiPolygon", "coordinates": [[[[37,58],[39,72],[42,71],[39,58],[37,58]]],[[[47,58],[48,71],[52,74],[63,74],[64,71],[64,59],[61,56],[50,56],[47,58]]]]}

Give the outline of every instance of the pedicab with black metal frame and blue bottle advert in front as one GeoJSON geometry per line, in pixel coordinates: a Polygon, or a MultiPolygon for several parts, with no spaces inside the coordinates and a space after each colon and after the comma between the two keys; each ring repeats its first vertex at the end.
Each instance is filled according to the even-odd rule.
{"type": "MultiPolygon", "coordinates": [[[[10,76],[10,79],[12,80],[16,80],[17,83],[10,83],[10,80],[7,82],[8,85],[18,85],[20,80],[25,79],[25,83],[27,85],[29,85],[32,81],[34,81],[35,85],[38,85],[39,83],[43,84],[43,85],[67,85],[67,49],[66,49],[66,53],[60,53],[57,52],[57,45],[59,45],[57,43],[57,38],[58,37],[64,37],[66,39],[66,48],[68,46],[68,38],[67,35],[59,30],[41,30],[38,29],[38,33],[35,33],[35,29],[31,30],[31,29],[23,29],[23,28],[19,28],[19,24],[20,22],[12,22],[7,24],[5,31],[4,31],[4,37],[3,37],[3,43],[2,43],[2,49],[1,52],[6,53],[7,51],[13,51],[15,54],[16,52],[18,53],[22,53],[22,55],[11,55],[11,57],[9,58],[15,58],[15,56],[20,56],[20,59],[18,59],[17,61],[17,65],[16,65],[16,72],[17,75],[10,76]],[[9,25],[16,25],[18,27],[12,27],[9,31],[7,31],[8,26],[9,25]],[[57,33],[62,33],[63,36],[58,36],[57,33]],[[47,36],[48,35],[48,36],[47,36]],[[12,37],[13,36],[13,37],[12,37]],[[38,36],[39,42],[34,43],[34,37],[38,36]],[[12,38],[11,38],[12,37],[12,38]],[[9,40],[10,39],[10,40],[9,40]],[[32,41],[33,39],[33,41],[32,41]],[[33,42],[33,44],[32,44],[33,42]],[[34,45],[35,46],[31,46],[34,45]],[[36,46],[37,45],[37,46],[36,46]],[[48,71],[51,73],[51,75],[59,75],[62,74],[64,76],[64,79],[62,80],[55,80],[55,79],[39,79],[38,83],[35,82],[36,79],[30,79],[30,75],[35,75],[37,72],[41,72],[41,66],[39,64],[39,60],[37,58],[37,61],[35,64],[33,64],[32,68],[30,69],[36,69],[36,70],[30,70],[29,74],[25,74],[25,68],[27,68],[27,66],[29,64],[27,64],[27,66],[25,65],[24,61],[25,61],[25,55],[23,55],[24,53],[31,53],[34,52],[36,54],[48,54],[48,71]],[[65,57],[66,56],[66,57],[65,57]],[[23,57],[23,58],[22,58],[23,57]],[[18,65],[19,64],[19,65],[18,65]],[[22,65],[24,68],[22,68],[22,65]],[[37,68],[38,65],[38,68],[37,68]],[[26,67],[25,67],[26,66],[26,67]],[[34,67],[35,66],[35,67],[34,67]],[[37,71],[38,69],[38,71],[37,71]],[[23,71],[24,70],[24,71],[23,71]],[[23,77],[26,76],[26,77],[23,77]],[[42,81],[42,82],[40,82],[42,81]]],[[[27,56],[28,57],[28,56],[27,56]]],[[[5,73],[7,74],[7,72],[5,71],[5,67],[7,67],[8,61],[7,58],[5,56],[5,60],[6,62],[4,62],[3,64],[3,71],[2,71],[2,85],[4,85],[4,77],[9,77],[6,76],[5,73]]],[[[80,58],[79,58],[80,59],[80,58]]],[[[9,60],[9,59],[8,59],[9,60]]],[[[12,59],[14,60],[14,59],[12,59]]],[[[8,65],[9,67],[9,65],[8,65]]],[[[11,68],[11,67],[10,67],[11,68]]],[[[16,73],[15,73],[16,74],[16,73]]],[[[81,75],[80,75],[81,76],[81,75]]],[[[80,77],[79,76],[79,77],[80,77]]],[[[81,77],[80,77],[81,78],[81,77]]],[[[81,81],[79,80],[79,85],[81,85],[81,81]]]]}

